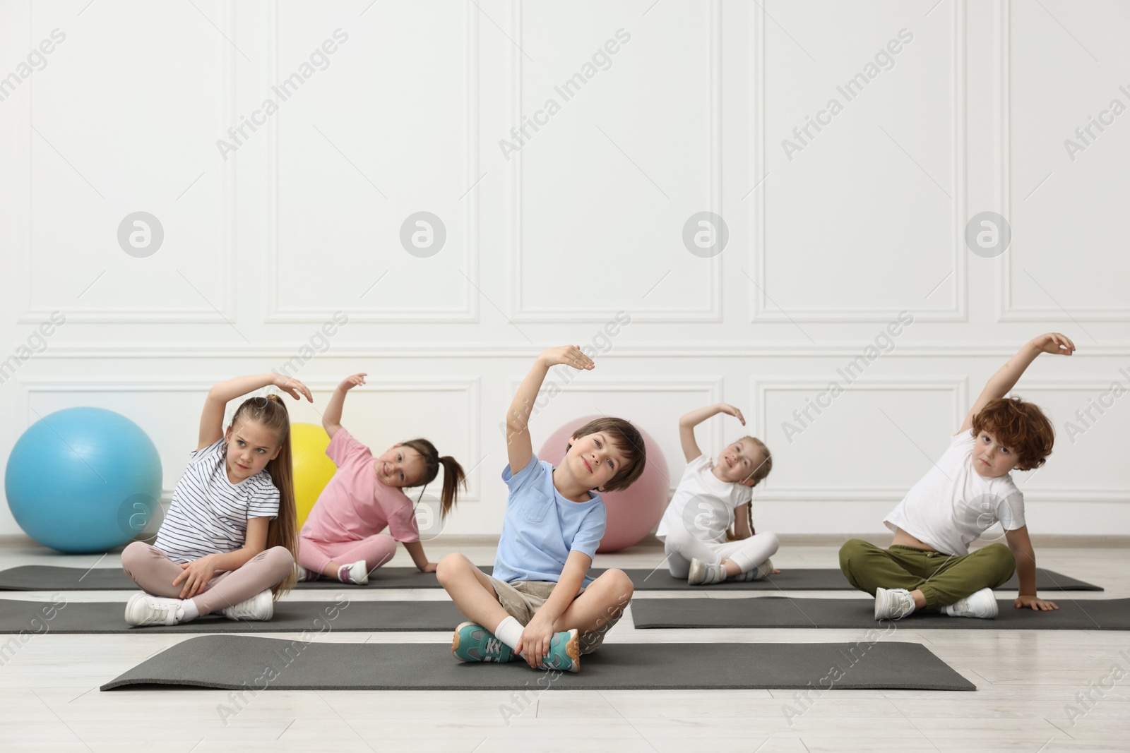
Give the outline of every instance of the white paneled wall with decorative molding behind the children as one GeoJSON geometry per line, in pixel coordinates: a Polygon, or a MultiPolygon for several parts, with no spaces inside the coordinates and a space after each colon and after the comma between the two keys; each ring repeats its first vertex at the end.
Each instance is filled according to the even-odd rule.
{"type": "MultiPolygon", "coordinates": [[[[1064,146],[1130,105],[1128,21],[1125,3],[1063,0],[2,0],[0,356],[17,358],[0,457],[36,413],[105,406],[157,443],[167,494],[208,386],[301,357],[340,310],[297,376],[324,402],[368,371],[345,413],[357,435],[424,435],[473,466],[450,533],[497,532],[498,422],[564,342],[608,352],[539,412],[536,448],[570,418],[618,414],[677,479],[678,417],[727,401],[775,453],[759,528],[881,531],[989,375],[1060,331],[1076,356],[1042,357],[1016,389],[1059,431],[1048,466],[1017,474],[1029,527],[1130,533],[1130,397],[1081,435],[1064,424],[1130,387],[1130,115],[1064,146]],[[56,28],[45,64],[21,68],[56,28]],[[328,67],[280,102],[272,87],[336,29],[328,67]],[[555,86],[618,29],[565,100],[555,86]],[[837,86],[901,29],[913,38],[847,100],[837,86]],[[549,98],[559,112],[504,155],[549,98]],[[831,98],[842,112],[786,154],[831,98]],[[253,115],[225,159],[217,140],[253,115]],[[399,242],[421,210],[446,229],[431,257],[399,242]],[[164,229],[144,259],[118,243],[134,211],[164,229]],[[683,243],[701,211],[729,229],[709,259],[683,243]],[[966,247],[982,211],[1011,225],[1000,256],[966,247]],[[20,361],[53,310],[67,323],[20,361]],[[893,350],[786,438],[899,312],[913,324],[893,350]]],[[[699,439],[716,453],[739,432],[716,418],[699,439]]],[[[17,532],[0,507],[0,534],[17,532]]]]}

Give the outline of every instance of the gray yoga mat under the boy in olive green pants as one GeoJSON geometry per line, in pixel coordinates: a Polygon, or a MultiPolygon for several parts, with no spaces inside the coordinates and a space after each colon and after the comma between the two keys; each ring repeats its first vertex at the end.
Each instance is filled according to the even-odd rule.
{"type": "MultiPolygon", "coordinates": [[[[997,599],[992,620],[914,612],[893,623],[921,630],[1130,630],[1130,598],[1053,599],[1052,612],[1018,610],[997,599]]],[[[637,598],[632,602],[636,629],[646,628],[881,628],[870,598],[637,598]]]]}

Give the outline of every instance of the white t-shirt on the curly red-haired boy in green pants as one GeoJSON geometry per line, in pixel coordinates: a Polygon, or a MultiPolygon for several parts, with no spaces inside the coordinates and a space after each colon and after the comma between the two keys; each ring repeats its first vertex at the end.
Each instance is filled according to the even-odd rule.
{"type": "Polygon", "coordinates": [[[1023,528],[1024,494],[1008,474],[985,479],[973,470],[975,444],[971,431],[955,435],[946,454],[884,520],[887,527],[945,554],[968,554],[970,544],[997,522],[1005,531],[1023,528]]]}

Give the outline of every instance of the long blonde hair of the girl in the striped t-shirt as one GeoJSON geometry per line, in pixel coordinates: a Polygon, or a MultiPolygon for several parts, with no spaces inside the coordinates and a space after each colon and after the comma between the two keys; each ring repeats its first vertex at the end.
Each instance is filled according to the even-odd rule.
{"type": "MultiPolygon", "coordinates": [[[[298,511],[294,504],[294,462],[290,452],[290,413],[279,395],[267,397],[249,397],[243,401],[232,417],[232,426],[237,421],[254,421],[268,429],[273,429],[279,438],[279,454],[268,461],[267,472],[271,482],[279,490],[279,514],[267,528],[267,549],[284,546],[294,560],[298,561],[298,511]]],[[[297,572],[292,568],[290,575],[282,583],[271,588],[275,598],[294,588],[297,572]]]]}

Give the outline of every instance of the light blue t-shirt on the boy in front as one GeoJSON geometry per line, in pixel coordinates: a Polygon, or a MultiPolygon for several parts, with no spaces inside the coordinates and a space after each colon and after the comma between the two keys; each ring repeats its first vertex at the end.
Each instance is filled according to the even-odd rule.
{"type": "MultiPolygon", "coordinates": [[[[506,465],[502,480],[510,488],[510,499],[495,557],[495,578],[557,583],[570,552],[596,555],[608,522],[600,494],[590,491],[588,502],[565,499],[554,488],[554,466],[537,455],[531,455],[516,475],[506,465]]],[[[582,585],[592,580],[585,575],[582,585]]]]}

